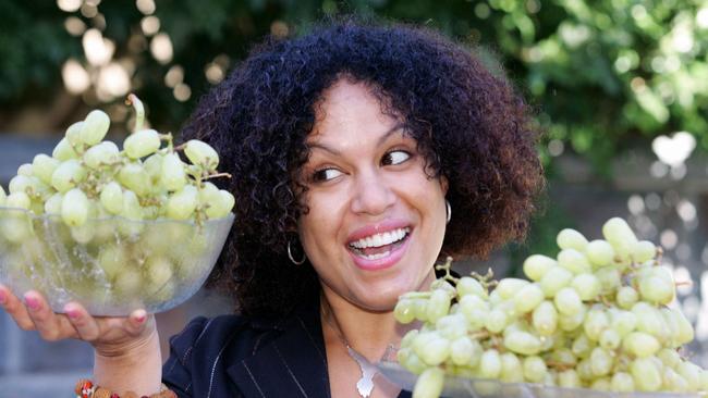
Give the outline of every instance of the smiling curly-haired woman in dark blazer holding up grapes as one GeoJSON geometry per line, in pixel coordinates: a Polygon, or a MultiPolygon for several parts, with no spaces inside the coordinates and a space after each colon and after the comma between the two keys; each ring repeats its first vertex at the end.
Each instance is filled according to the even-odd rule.
{"type": "MultiPolygon", "coordinates": [[[[236,223],[213,279],[240,315],[197,319],[160,368],[151,315],[0,301],[24,329],[81,338],[96,384],[180,397],[395,397],[368,362],[405,329],[392,310],[441,256],[521,239],[542,186],[527,108],[427,29],[342,22],[256,48],[204,98],[186,137],[234,177],[236,223]]],[[[404,395],[405,393],[401,393],[404,395]]]]}

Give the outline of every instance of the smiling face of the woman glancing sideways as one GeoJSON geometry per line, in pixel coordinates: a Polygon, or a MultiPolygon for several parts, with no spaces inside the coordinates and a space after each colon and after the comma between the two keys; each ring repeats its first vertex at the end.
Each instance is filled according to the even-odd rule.
{"type": "Polygon", "coordinates": [[[363,84],[322,95],[303,169],[300,238],[326,294],[374,311],[427,287],[445,231],[443,178],[363,84]]]}

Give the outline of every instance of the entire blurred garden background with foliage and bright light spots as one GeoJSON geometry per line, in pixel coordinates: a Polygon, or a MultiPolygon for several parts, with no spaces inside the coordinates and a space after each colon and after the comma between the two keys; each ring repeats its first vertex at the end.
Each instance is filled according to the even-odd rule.
{"type": "MultiPolygon", "coordinates": [[[[516,273],[528,253],[554,254],[563,227],[597,238],[623,216],[692,282],[679,304],[696,326],[694,360],[708,365],[708,0],[5,0],[0,184],[91,109],[124,135],[129,92],[150,125],[179,132],[264,35],[351,12],[444,32],[502,65],[536,110],[548,194],[527,241],[492,257],[498,274],[516,273]]],[[[179,329],[191,311],[164,322],[179,329]]],[[[14,336],[0,337],[10,352],[0,385],[65,371],[58,363],[90,366],[87,351],[26,341],[13,327],[0,318],[0,336],[14,336]],[[37,349],[48,359],[26,357],[37,349]]]]}

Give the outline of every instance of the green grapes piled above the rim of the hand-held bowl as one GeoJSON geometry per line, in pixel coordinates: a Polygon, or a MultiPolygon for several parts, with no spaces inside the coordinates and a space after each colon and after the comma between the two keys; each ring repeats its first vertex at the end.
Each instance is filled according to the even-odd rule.
{"type": "Polygon", "coordinates": [[[142,128],[142,103],[135,96],[131,101],[138,109],[136,130],[122,150],[102,140],[110,120],[95,110],[66,129],[51,157],[40,153],[32,164],[20,166],[10,194],[0,188],[0,206],[58,214],[73,227],[114,215],[199,222],[229,214],[233,196],[207,181],[221,175],[216,173],[217,151],[196,139],[173,147],[171,134],[142,128]]]}

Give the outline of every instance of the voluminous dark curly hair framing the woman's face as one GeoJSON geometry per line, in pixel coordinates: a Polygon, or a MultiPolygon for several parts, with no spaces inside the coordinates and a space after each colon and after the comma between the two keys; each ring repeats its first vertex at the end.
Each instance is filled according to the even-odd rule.
{"type": "MultiPolygon", "coordinates": [[[[267,38],[202,98],[184,139],[212,145],[231,173],[236,221],[211,281],[244,314],[283,315],[320,291],[293,265],[298,175],[315,105],[340,78],[371,87],[416,139],[453,209],[442,256],[485,258],[523,239],[544,187],[529,107],[469,49],[424,27],[334,21],[290,39],[267,38]]],[[[298,247],[298,245],[296,245],[298,247]]]]}

